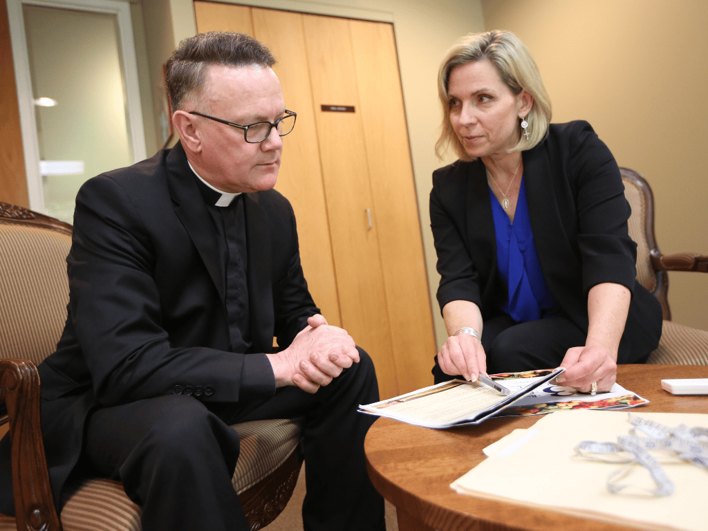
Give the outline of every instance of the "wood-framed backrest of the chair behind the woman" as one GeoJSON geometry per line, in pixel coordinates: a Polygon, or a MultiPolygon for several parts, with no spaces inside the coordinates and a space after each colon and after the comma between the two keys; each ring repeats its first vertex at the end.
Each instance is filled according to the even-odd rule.
{"type": "Polygon", "coordinates": [[[651,256],[660,256],[654,236],[654,197],[646,179],[636,171],[620,168],[624,197],[632,207],[629,236],[636,241],[636,280],[659,299],[664,319],[671,319],[668,307],[668,277],[666,271],[654,269],[651,256]]]}

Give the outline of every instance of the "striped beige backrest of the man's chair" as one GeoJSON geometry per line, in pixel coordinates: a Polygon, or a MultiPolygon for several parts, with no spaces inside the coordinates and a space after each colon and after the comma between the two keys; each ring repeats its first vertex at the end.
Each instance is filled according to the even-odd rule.
{"type": "Polygon", "coordinates": [[[0,358],[39,365],[67,319],[72,226],[0,202],[0,358]]]}

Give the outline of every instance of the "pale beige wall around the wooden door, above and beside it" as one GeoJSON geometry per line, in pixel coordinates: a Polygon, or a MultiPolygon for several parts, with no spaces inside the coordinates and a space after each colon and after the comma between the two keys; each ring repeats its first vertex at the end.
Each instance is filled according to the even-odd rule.
{"type": "MultiPolygon", "coordinates": [[[[439,277],[435,271],[435,249],[428,217],[431,174],[442,166],[433,154],[440,123],[435,78],[440,58],[460,35],[484,30],[479,0],[251,0],[231,3],[394,23],[435,333],[438,345],[444,343],[447,333],[435,300],[439,277]]],[[[164,50],[169,47],[166,46],[169,40],[166,26],[173,21],[172,47],[183,38],[194,35],[194,8],[191,0],[151,0],[143,4],[143,13],[151,75],[154,76],[156,64],[167,59],[164,55],[164,50]],[[157,35],[151,35],[152,28],[157,35]],[[162,51],[156,53],[159,47],[162,51]]]]}

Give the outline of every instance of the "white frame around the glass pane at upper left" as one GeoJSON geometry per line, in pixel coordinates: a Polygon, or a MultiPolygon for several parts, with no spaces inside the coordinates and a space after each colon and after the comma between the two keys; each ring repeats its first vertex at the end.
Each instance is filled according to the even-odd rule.
{"type": "Polygon", "coordinates": [[[22,4],[110,13],[117,16],[133,162],[142,161],[142,159],[146,158],[145,132],[137,83],[137,63],[135,61],[135,44],[130,19],[130,4],[117,0],[7,0],[30,209],[45,214],[47,211],[42,176],[40,175],[40,151],[35,124],[30,61],[27,52],[27,39],[25,38],[22,4]]]}

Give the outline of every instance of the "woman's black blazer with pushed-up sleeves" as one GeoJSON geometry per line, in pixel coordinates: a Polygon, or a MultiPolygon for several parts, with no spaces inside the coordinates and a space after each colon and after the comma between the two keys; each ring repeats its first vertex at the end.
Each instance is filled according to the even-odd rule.
{"type": "MultiPolygon", "coordinates": [[[[632,302],[619,362],[643,362],[661,336],[661,304],[636,282],[636,244],[619,168],[588,122],[552,124],[522,153],[532,232],[544,278],[561,312],[588,330],[588,290],[629,288],[632,302]]],[[[497,270],[491,195],[484,164],[456,161],[433,173],[430,227],[438,253],[438,302],[501,313],[506,290],[497,270]]]]}

